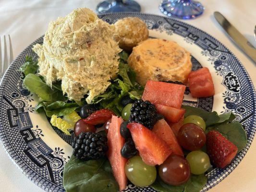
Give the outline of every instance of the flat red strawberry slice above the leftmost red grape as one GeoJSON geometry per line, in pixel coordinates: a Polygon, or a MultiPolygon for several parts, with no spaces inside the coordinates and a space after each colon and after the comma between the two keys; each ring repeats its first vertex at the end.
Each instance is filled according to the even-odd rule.
{"type": "Polygon", "coordinates": [[[110,109],[100,109],[92,113],[86,119],[83,119],[86,123],[91,125],[103,124],[111,119],[112,115],[115,115],[110,109]]]}

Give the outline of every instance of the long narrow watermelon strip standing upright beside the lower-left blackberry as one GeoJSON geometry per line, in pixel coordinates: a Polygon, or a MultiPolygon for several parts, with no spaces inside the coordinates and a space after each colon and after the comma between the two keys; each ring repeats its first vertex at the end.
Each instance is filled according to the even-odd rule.
{"type": "Polygon", "coordinates": [[[121,117],[118,118],[117,116],[112,116],[108,132],[109,150],[107,154],[114,177],[119,184],[120,191],[124,190],[127,185],[127,177],[124,172],[124,166],[127,159],[123,158],[121,155],[121,149],[125,143],[125,139],[120,134],[120,125],[122,121],[121,117]]]}

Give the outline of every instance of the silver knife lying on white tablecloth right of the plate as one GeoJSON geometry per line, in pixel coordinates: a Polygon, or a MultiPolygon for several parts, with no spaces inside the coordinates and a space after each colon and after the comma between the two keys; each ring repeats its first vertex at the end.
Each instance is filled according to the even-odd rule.
{"type": "Polygon", "coordinates": [[[214,17],[231,39],[256,63],[256,48],[220,12],[214,12],[214,17]]]}

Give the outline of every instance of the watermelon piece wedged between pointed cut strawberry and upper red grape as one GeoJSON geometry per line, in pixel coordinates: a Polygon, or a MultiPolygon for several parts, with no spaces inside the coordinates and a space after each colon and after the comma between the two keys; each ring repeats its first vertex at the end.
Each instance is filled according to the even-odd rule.
{"type": "Polygon", "coordinates": [[[184,156],[183,150],[178,143],[175,134],[172,132],[171,127],[164,119],[158,120],[152,129],[152,132],[156,133],[162,140],[164,140],[170,146],[174,154],[184,156]]]}

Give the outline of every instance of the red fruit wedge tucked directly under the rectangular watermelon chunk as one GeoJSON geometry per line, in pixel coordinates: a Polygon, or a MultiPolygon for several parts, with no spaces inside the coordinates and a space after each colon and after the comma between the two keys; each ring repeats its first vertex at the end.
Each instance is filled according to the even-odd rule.
{"type": "Polygon", "coordinates": [[[155,104],[159,114],[163,115],[171,123],[177,123],[185,114],[185,109],[172,108],[160,104],[155,104]]]}

